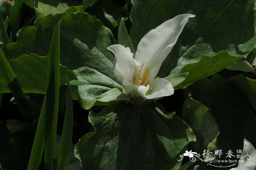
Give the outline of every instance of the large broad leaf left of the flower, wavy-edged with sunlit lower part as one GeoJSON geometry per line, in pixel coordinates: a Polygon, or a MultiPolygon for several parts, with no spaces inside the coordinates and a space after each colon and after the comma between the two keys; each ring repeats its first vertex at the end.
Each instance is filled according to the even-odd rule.
{"type": "Polygon", "coordinates": [[[78,87],[81,106],[91,108],[95,97],[112,88],[122,91],[121,80],[113,72],[113,54],[106,49],[116,40],[101,21],[83,12],[55,13],[37,19],[33,26],[20,29],[16,43],[7,44],[6,56],[9,59],[31,53],[47,56],[53,26],[60,19],[63,30],[60,63],[73,70],[79,81],[90,83],[78,87]]]}

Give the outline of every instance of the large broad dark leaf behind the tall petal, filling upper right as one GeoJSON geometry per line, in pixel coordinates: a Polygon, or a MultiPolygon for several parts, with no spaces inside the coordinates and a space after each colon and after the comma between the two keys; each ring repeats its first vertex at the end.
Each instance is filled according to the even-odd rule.
{"type": "Polygon", "coordinates": [[[130,37],[135,50],[140,39],[164,21],[184,13],[196,15],[185,25],[159,77],[179,74],[203,55],[226,50],[232,56],[242,56],[255,48],[253,0],[132,0],[132,4],[130,37]]]}

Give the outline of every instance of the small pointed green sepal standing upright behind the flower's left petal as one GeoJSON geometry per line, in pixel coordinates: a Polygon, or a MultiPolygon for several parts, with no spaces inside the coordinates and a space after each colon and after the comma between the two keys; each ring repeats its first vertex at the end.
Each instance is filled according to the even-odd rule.
{"type": "Polygon", "coordinates": [[[118,28],[118,44],[121,44],[124,47],[129,47],[131,49],[131,52],[135,55],[135,50],[133,48],[132,41],[128,35],[127,29],[124,24],[124,18],[121,19],[118,28]]]}

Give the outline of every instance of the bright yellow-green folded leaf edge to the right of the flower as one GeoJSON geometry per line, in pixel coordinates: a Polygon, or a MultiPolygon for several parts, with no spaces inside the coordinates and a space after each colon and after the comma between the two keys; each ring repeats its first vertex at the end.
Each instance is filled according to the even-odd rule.
{"type": "Polygon", "coordinates": [[[227,66],[237,62],[242,56],[231,56],[226,51],[220,51],[214,56],[204,55],[197,63],[187,64],[181,72],[189,72],[188,77],[182,82],[182,86],[187,86],[196,80],[210,76],[227,66]]]}

